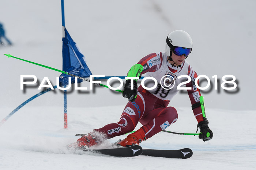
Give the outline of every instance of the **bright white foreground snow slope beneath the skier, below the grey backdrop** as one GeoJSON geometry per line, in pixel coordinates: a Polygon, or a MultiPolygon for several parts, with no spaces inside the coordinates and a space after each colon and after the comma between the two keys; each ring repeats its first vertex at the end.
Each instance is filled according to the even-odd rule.
{"type": "MultiPolygon", "coordinates": [[[[49,94],[48,94],[49,95],[49,94]]],[[[58,107],[29,107],[19,111],[1,126],[0,169],[255,169],[256,132],[255,111],[226,111],[207,109],[209,126],[214,132],[211,141],[203,142],[194,136],[161,132],[141,143],[150,149],[181,149],[189,147],[189,159],[154,158],[140,155],[115,158],[99,154],[72,154],[64,146],[76,141],[76,133],[87,133],[106,123],[119,120],[123,106],[69,108],[68,130],[62,126],[58,107]],[[246,115],[249,119],[241,119],[246,115]],[[65,154],[62,154],[62,151],[65,154]],[[200,166],[200,167],[199,167],[200,166]]],[[[196,120],[190,108],[177,108],[179,118],[169,131],[194,133],[196,120]]],[[[4,114],[0,114],[1,117],[4,114]]],[[[136,127],[138,129],[140,125],[136,127]]],[[[125,138],[107,140],[104,145],[125,138]]]]}

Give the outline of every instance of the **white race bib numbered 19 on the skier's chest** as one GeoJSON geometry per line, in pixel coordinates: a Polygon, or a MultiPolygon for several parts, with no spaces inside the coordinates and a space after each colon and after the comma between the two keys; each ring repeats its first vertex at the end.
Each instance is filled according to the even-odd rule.
{"type": "MultiPolygon", "coordinates": [[[[157,56],[155,58],[159,58],[160,59],[160,52],[159,53],[156,53],[157,56]]],[[[177,90],[177,86],[182,83],[182,82],[185,82],[186,80],[188,80],[188,78],[180,78],[178,79],[177,77],[180,76],[180,75],[188,75],[188,67],[189,67],[189,63],[187,61],[184,61],[182,63],[182,66],[181,67],[172,67],[171,64],[167,61],[167,56],[165,53],[162,53],[162,56],[163,56],[163,61],[162,61],[162,66],[159,68],[160,66],[160,62],[158,64],[158,67],[159,68],[157,71],[155,72],[147,72],[145,74],[145,78],[146,77],[153,77],[157,80],[157,87],[154,88],[153,90],[148,90],[151,94],[153,94],[154,96],[156,96],[157,98],[159,99],[162,99],[162,100],[171,100],[173,98],[174,95],[177,94],[177,92],[179,90],[177,90]],[[178,70],[177,72],[173,73],[172,71],[169,70],[168,66],[174,70],[178,70]],[[163,78],[163,76],[165,76],[163,78]],[[173,81],[173,79],[175,81],[173,81]],[[169,78],[170,80],[166,80],[166,78],[169,78]],[[166,87],[165,84],[164,84],[164,81],[165,81],[165,84],[168,86],[170,85],[169,87],[166,87]],[[173,87],[172,89],[170,90],[166,90],[164,89],[160,84],[162,84],[163,87],[165,87],[166,89],[169,89],[171,87],[173,87]],[[174,86],[173,86],[174,84],[174,86]]],[[[153,80],[145,80],[144,82],[144,85],[146,87],[153,87],[154,86],[154,81],[153,80]]],[[[185,84],[183,84],[182,86],[184,86],[185,84]]],[[[182,87],[180,86],[180,87],[182,87]]]]}

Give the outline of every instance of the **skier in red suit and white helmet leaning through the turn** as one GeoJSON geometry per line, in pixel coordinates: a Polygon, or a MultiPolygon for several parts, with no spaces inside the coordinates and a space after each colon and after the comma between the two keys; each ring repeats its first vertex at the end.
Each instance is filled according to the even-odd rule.
{"type": "MultiPolygon", "coordinates": [[[[129,102],[125,106],[119,122],[107,124],[100,129],[94,129],[89,134],[78,139],[77,142],[69,145],[69,147],[87,149],[102,143],[106,139],[131,132],[138,122],[143,126],[118,142],[117,145],[139,145],[140,142],[146,141],[146,139],[165,130],[176,122],[178,118],[176,109],[167,106],[173,96],[177,94],[178,84],[188,80],[187,77],[178,79],[177,77],[180,75],[188,75],[191,79],[185,85],[191,88],[191,90],[188,90],[188,95],[193,113],[198,122],[197,127],[201,132],[199,138],[203,141],[210,140],[213,133],[208,127],[208,120],[202,115],[199,100],[201,94],[200,90],[195,86],[197,74],[185,60],[191,51],[192,39],[187,32],[181,30],[171,32],[166,39],[165,52],[147,55],[138,64],[132,66],[127,74],[127,77],[139,77],[142,74],[146,74],[145,77],[153,77],[157,80],[157,87],[153,90],[146,90],[142,85],[138,88],[136,80],[126,80],[123,96],[128,98],[129,102]],[[162,78],[163,76],[165,77],[162,78]],[[171,87],[170,85],[173,86],[172,89],[168,88],[171,87]]],[[[154,83],[150,80],[145,82],[144,84],[147,84],[147,87],[154,86],[154,83]]]]}

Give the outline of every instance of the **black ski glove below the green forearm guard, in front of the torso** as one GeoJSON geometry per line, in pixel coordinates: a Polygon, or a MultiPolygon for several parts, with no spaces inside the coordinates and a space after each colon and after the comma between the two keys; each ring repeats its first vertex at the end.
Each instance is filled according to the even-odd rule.
{"type": "Polygon", "coordinates": [[[131,80],[125,81],[123,97],[128,98],[129,101],[134,102],[137,98],[137,82],[133,80],[133,90],[131,90],[131,80]]]}

